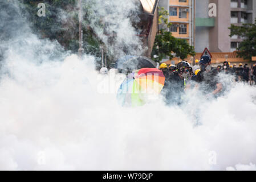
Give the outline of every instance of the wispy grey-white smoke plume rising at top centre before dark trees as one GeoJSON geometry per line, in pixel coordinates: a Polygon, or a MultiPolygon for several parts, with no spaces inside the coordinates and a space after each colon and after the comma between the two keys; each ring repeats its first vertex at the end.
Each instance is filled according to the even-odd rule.
{"type": "Polygon", "coordinates": [[[132,26],[133,23],[140,21],[139,1],[83,0],[83,5],[90,10],[87,17],[90,20],[90,27],[108,51],[116,56],[115,58],[127,53],[143,54],[146,48],[143,47],[139,36],[136,36],[141,30],[136,30],[132,26]]]}

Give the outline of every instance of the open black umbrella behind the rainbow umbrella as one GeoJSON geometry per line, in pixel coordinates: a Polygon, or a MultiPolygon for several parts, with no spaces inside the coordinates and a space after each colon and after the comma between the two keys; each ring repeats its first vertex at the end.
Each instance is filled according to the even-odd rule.
{"type": "Polygon", "coordinates": [[[116,61],[116,68],[123,73],[131,73],[141,68],[156,68],[156,62],[144,56],[124,56],[116,61]]]}

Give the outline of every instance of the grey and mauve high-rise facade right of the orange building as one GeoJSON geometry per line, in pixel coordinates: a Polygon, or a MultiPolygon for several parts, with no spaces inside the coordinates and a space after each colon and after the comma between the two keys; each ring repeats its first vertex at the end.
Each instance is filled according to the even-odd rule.
{"type": "Polygon", "coordinates": [[[230,38],[231,24],[242,26],[254,23],[256,1],[254,0],[196,0],[196,45],[195,51],[205,47],[210,52],[233,52],[242,42],[239,36],[230,38]],[[209,4],[215,3],[217,16],[209,17],[209,4]]]}

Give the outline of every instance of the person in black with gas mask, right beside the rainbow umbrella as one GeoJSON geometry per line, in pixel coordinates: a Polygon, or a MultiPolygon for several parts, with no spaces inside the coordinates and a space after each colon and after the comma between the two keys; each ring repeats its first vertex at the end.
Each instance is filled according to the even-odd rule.
{"type": "Polygon", "coordinates": [[[165,81],[162,95],[165,97],[166,105],[180,105],[185,88],[189,86],[190,66],[186,61],[181,61],[165,81]]]}

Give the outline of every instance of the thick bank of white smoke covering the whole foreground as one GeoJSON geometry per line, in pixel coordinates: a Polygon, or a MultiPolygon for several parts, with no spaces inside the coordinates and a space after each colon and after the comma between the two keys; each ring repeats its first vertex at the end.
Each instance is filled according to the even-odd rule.
{"type": "Polygon", "coordinates": [[[124,108],[98,92],[94,57],[32,34],[1,47],[0,169],[255,169],[255,87],[124,108]]]}

